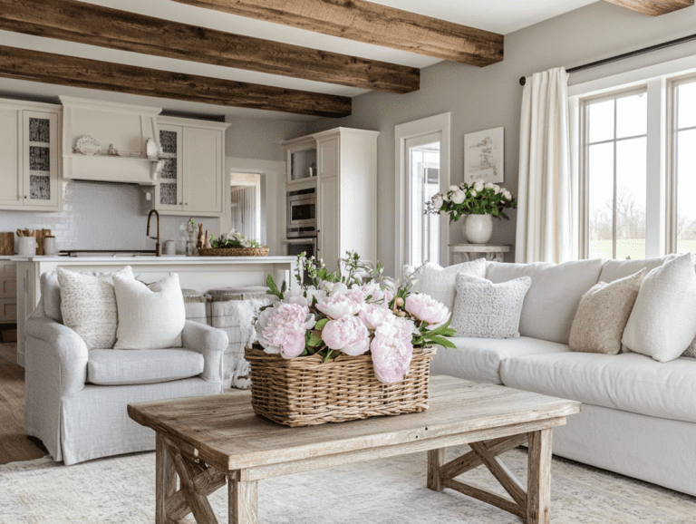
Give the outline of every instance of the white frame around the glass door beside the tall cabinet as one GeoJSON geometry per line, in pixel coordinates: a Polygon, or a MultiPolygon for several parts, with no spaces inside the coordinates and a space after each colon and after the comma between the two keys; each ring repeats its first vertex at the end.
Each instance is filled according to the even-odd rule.
{"type": "MultiPolygon", "coordinates": [[[[394,277],[398,280],[403,271],[403,265],[407,259],[405,253],[405,239],[408,231],[405,222],[408,204],[407,181],[408,160],[406,158],[406,140],[420,135],[441,132],[440,142],[440,190],[449,187],[450,166],[450,122],[451,113],[443,112],[417,121],[409,121],[394,126],[394,151],[395,151],[395,215],[394,215],[394,277]]],[[[449,219],[446,214],[440,214],[440,261],[448,259],[449,245],[449,219]]]]}

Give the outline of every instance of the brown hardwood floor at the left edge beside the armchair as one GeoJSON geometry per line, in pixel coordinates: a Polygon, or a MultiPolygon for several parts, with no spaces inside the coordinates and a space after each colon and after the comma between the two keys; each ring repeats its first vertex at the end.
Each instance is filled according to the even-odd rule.
{"type": "Polygon", "coordinates": [[[16,362],[17,344],[0,344],[0,464],[48,453],[41,441],[24,432],[24,368],[16,362]]]}

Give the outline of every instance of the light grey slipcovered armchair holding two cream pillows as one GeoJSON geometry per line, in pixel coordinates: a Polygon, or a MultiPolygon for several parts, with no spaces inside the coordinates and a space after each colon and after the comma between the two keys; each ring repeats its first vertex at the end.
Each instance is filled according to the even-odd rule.
{"type": "Polygon", "coordinates": [[[183,347],[92,349],[62,324],[55,272],[26,322],[24,427],[66,465],[155,449],[155,434],[131,421],[129,403],[222,392],[227,334],[187,320],[183,347]]]}

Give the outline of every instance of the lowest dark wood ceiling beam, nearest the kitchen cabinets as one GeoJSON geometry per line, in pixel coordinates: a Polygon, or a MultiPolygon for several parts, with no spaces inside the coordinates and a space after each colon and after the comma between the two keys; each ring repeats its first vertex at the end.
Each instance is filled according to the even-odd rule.
{"type": "Polygon", "coordinates": [[[344,96],[172,73],[5,45],[0,45],[0,77],[312,116],[338,118],[351,114],[351,99],[344,96]]]}

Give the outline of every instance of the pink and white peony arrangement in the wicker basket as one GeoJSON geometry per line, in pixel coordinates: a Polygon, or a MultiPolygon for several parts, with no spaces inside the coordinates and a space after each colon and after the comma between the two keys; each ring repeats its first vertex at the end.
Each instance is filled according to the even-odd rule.
{"type": "Polygon", "coordinates": [[[371,354],[377,379],[395,383],[408,374],[414,347],[440,344],[447,337],[449,310],[428,295],[411,293],[382,277],[383,267],[348,252],[329,272],[314,257],[297,258],[297,286],[266,284],[279,298],[256,318],[258,343],[267,354],[290,359],[310,354],[324,362],[339,354],[371,354]]]}

